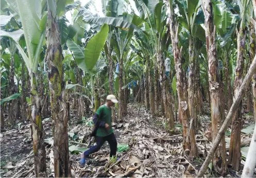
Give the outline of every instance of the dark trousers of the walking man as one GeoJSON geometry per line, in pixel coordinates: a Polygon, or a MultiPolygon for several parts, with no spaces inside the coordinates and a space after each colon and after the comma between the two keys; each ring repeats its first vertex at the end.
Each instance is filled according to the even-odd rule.
{"type": "Polygon", "coordinates": [[[110,146],[110,157],[116,156],[116,150],[117,150],[117,142],[114,133],[105,136],[105,137],[99,137],[96,136],[96,144],[95,146],[91,147],[89,150],[84,152],[84,157],[88,157],[90,154],[95,153],[98,151],[101,146],[105,143],[105,141],[108,141],[110,146]]]}

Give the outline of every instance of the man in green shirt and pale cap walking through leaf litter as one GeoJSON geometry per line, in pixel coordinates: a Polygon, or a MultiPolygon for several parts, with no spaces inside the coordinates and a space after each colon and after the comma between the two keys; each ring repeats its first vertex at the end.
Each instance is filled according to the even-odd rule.
{"type": "Polygon", "coordinates": [[[91,136],[95,136],[96,145],[81,154],[81,166],[86,165],[86,159],[89,157],[89,155],[98,151],[101,146],[103,146],[105,141],[108,141],[110,146],[110,157],[116,156],[117,142],[111,127],[111,106],[117,102],[118,101],[114,95],[108,95],[106,104],[101,105],[95,112],[93,117],[94,130],[91,136]]]}

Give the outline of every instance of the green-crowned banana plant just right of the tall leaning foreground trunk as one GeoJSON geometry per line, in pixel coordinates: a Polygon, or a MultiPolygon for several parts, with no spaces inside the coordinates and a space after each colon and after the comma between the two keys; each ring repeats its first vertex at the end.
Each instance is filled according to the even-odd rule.
{"type": "MultiPolygon", "coordinates": [[[[198,61],[196,60],[199,56],[199,46],[198,38],[200,40],[205,41],[206,37],[202,35],[204,33],[204,29],[201,27],[200,23],[201,19],[203,18],[203,13],[199,11],[201,6],[201,1],[199,0],[183,0],[178,2],[179,13],[182,17],[179,18],[179,23],[183,28],[189,31],[189,82],[188,82],[188,104],[189,104],[189,111],[190,117],[194,122],[195,129],[198,128],[198,121],[197,121],[197,103],[198,101],[198,80],[196,78],[199,73],[199,69],[196,67],[198,66],[198,61]],[[199,13],[197,13],[199,11],[199,13]],[[197,39],[196,39],[197,38],[197,39]],[[195,98],[196,97],[196,98],[195,98]]],[[[184,50],[185,48],[183,48],[184,50]]],[[[186,52],[186,50],[184,50],[186,52]]]]}

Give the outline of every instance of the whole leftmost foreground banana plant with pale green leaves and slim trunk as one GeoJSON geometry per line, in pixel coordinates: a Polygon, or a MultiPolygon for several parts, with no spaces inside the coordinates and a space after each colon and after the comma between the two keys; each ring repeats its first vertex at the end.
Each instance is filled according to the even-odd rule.
{"type": "Polygon", "coordinates": [[[22,0],[6,1],[11,9],[19,15],[22,22],[23,30],[8,32],[1,30],[1,35],[9,37],[15,44],[16,48],[26,63],[31,83],[30,99],[31,105],[31,122],[32,124],[32,140],[33,150],[35,153],[35,171],[36,175],[47,176],[46,163],[45,163],[45,147],[44,147],[44,131],[41,120],[41,104],[40,98],[37,92],[36,73],[39,55],[42,50],[42,45],[45,43],[45,26],[46,26],[46,12],[42,11],[42,2],[22,0]],[[27,54],[19,44],[19,39],[24,33],[26,40],[27,54]]]}

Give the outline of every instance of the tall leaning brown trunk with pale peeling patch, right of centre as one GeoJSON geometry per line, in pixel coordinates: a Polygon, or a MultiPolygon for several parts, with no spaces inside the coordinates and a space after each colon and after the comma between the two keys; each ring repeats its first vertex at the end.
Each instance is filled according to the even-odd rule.
{"type": "Polygon", "coordinates": [[[176,69],[176,86],[179,100],[179,119],[182,121],[183,149],[190,158],[198,157],[195,131],[193,123],[190,122],[190,112],[187,101],[186,77],[181,63],[181,50],[178,46],[178,23],[175,20],[174,9],[169,1],[168,12],[170,15],[170,37],[172,38],[174,62],[176,69]]]}

